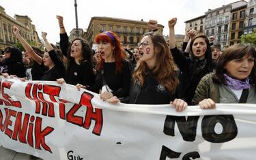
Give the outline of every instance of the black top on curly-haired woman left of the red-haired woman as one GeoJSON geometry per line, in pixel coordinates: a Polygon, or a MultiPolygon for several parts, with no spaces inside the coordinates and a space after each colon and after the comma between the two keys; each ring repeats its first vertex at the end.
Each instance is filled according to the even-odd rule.
{"type": "Polygon", "coordinates": [[[65,80],[72,85],[78,83],[85,86],[93,85],[95,78],[91,63],[89,61],[83,61],[80,65],[72,63],[68,66],[65,80]]]}

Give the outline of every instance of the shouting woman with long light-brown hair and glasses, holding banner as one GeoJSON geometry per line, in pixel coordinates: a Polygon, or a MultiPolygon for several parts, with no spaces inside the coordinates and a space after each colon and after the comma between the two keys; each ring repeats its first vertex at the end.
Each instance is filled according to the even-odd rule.
{"type": "MultiPolygon", "coordinates": [[[[175,65],[165,39],[156,33],[146,33],[139,44],[141,48],[139,65],[135,68],[130,88],[129,103],[167,104],[181,112],[187,106],[177,99],[178,80],[175,65]]],[[[117,103],[118,99],[108,99],[117,103]]]]}

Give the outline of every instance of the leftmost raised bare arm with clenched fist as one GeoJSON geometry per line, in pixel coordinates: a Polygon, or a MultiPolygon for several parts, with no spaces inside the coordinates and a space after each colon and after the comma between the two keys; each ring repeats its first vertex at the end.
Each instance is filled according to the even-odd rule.
{"type": "Polygon", "coordinates": [[[12,27],[12,31],[15,35],[15,37],[18,38],[18,40],[20,41],[20,43],[23,45],[23,48],[26,50],[26,53],[29,55],[29,57],[31,57],[34,61],[36,61],[38,64],[42,64],[42,57],[40,57],[38,54],[36,54],[33,51],[33,48],[26,42],[26,40],[21,37],[20,35],[20,29],[18,29],[18,27],[13,26],[12,27]]]}

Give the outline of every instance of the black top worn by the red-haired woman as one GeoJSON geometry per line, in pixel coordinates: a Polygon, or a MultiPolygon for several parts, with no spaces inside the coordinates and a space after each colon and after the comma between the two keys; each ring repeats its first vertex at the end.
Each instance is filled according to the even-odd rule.
{"type": "MultiPolygon", "coordinates": [[[[129,93],[130,87],[130,66],[128,61],[124,61],[122,70],[117,73],[115,62],[104,63],[103,71],[106,84],[113,91],[113,95],[117,97],[126,97],[129,93]]],[[[96,82],[94,87],[91,88],[92,91],[99,93],[102,89],[102,74],[99,71],[96,76],[96,82]]]]}

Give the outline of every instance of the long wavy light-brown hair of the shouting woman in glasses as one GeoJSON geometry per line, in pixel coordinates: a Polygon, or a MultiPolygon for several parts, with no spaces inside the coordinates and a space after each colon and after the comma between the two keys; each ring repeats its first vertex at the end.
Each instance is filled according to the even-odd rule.
{"type": "MultiPolygon", "coordinates": [[[[149,36],[152,39],[154,52],[156,54],[157,63],[155,64],[154,69],[152,69],[153,76],[160,84],[167,87],[169,92],[173,93],[179,82],[175,75],[175,65],[167,42],[165,42],[162,35],[158,35],[156,33],[146,33],[144,36],[149,36]]],[[[148,71],[149,68],[147,63],[141,61],[134,71],[134,82],[139,81],[143,86],[144,77],[148,74],[148,71]]]]}

